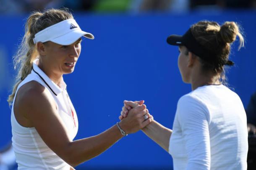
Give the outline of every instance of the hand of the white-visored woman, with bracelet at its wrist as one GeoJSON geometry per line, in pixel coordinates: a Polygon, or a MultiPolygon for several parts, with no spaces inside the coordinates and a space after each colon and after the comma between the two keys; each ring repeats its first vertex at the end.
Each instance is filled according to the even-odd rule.
{"type": "Polygon", "coordinates": [[[130,134],[144,128],[151,123],[152,120],[153,117],[149,114],[149,110],[146,109],[145,104],[139,105],[138,103],[134,103],[133,108],[129,110],[129,114],[126,114],[125,119],[121,119],[119,124],[125,133],[130,134]],[[148,117],[146,120],[144,118],[145,115],[148,117]]]}

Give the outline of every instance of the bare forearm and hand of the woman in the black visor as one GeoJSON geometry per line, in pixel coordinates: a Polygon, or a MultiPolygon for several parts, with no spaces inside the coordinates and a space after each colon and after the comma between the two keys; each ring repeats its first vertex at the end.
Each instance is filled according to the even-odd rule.
{"type": "MultiPolygon", "coordinates": [[[[128,112],[130,114],[130,109],[133,107],[137,107],[139,104],[143,104],[144,101],[125,101],[125,106],[121,112],[120,119],[128,116],[128,112]]],[[[146,127],[141,129],[149,138],[154,140],[160,147],[162,147],[167,152],[169,151],[169,141],[172,134],[172,130],[164,127],[162,124],[153,120],[146,127]]]]}

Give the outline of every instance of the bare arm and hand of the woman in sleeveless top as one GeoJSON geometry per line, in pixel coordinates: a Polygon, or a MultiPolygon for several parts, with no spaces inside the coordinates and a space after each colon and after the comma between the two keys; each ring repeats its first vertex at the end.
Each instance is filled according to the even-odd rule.
{"type": "MultiPolygon", "coordinates": [[[[16,114],[24,115],[29,120],[30,127],[37,129],[47,146],[72,166],[101,154],[123,137],[114,125],[93,137],[71,141],[48,90],[34,83],[32,88],[24,89],[19,96],[15,103],[16,114]]],[[[137,132],[152,121],[144,121],[144,114],[148,114],[145,105],[131,111],[128,119],[120,121],[120,127],[128,134],[137,132]]]]}

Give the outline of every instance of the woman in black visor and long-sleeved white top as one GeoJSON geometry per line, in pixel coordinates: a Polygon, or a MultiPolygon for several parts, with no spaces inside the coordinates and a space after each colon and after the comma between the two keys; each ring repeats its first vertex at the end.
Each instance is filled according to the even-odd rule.
{"type": "MultiPolygon", "coordinates": [[[[174,170],[247,168],[246,113],[239,96],[222,84],[225,65],[234,64],[228,57],[237,36],[241,47],[234,22],[200,21],[183,36],[167,38],[179,46],[180,74],[192,91],[179,99],[172,130],[153,121],[143,131],[172,155],[174,170]]],[[[139,104],[125,101],[120,119],[139,104]]]]}

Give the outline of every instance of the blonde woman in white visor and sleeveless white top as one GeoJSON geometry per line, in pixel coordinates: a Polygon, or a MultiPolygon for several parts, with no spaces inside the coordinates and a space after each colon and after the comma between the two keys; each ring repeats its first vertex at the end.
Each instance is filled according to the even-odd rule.
{"type": "Polygon", "coordinates": [[[15,56],[20,64],[17,82],[8,99],[19,170],[72,170],[152,122],[141,105],[101,134],[73,141],[78,118],[63,74],[74,71],[81,37],[94,36],[82,31],[67,10],[57,9],[32,13],[25,31],[15,56]]]}

